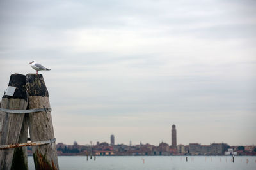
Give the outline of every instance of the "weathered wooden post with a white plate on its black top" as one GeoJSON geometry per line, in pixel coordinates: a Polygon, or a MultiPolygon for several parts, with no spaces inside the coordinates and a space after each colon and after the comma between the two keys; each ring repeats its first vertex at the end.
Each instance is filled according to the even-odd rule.
{"type": "MultiPolygon", "coordinates": [[[[27,93],[26,93],[26,76],[22,74],[12,74],[10,76],[10,81],[8,89],[14,89],[14,93],[10,92],[12,90],[6,90],[1,102],[2,108],[12,109],[12,110],[26,110],[28,106],[27,93]],[[7,92],[9,91],[9,93],[7,92]]],[[[22,139],[20,136],[20,131],[22,129],[23,114],[15,113],[0,113],[0,145],[10,145],[19,143],[19,141],[26,140],[22,139]]],[[[15,148],[0,150],[0,169],[12,169],[19,164],[19,169],[28,169],[28,162],[26,157],[26,149],[19,150],[16,152],[15,148]],[[15,152],[14,152],[15,151],[15,152]],[[19,162],[13,161],[13,154],[19,159],[19,162]],[[22,159],[23,158],[23,159],[22,159]]]]}

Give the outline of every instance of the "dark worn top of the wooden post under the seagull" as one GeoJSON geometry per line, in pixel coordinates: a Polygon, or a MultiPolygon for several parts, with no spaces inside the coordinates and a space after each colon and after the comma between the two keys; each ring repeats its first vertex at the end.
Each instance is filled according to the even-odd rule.
{"type": "Polygon", "coordinates": [[[42,74],[27,74],[26,85],[28,96],[45,96],[49,97],[44,78],[42,74]]]}

